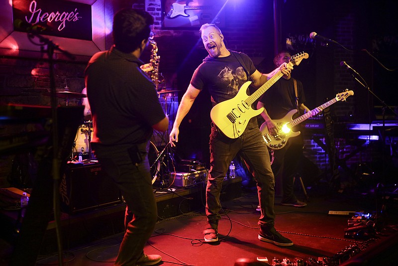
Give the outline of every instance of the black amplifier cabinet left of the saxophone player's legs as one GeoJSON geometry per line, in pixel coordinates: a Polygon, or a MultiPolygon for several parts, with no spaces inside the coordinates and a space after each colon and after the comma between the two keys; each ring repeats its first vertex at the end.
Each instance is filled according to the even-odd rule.
{"type": "Polygon", "coordinates": [[[60,185],[61,210],[68,214],[121,203],[121,193],[100,163],[69,163],[60,185]]]}

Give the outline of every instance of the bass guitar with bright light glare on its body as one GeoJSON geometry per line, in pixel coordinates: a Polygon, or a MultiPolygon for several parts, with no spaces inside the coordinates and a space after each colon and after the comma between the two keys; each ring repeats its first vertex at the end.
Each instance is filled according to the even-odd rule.
{"type": "MultiPolygon", "coordinates": [[[[337,103],[338,101],[345,101],[347,99],[347,97],[350,95],[354,95],[354,92],[345,90],[342,93],[336,94],[335,98],[324,103],[323,105],[318,106],[317,108],[320,110],[323,110],[323,109],[331,106],[332,104],[337,103]]],[[[295,137],[300,134],[299,131],[294,132],[294,131],[292,131],[292,129],[294,127],[296,127],[298,124],[300,124],[301,122],[304,122],[308,118],[312,117],[315,114],[315,109],[298,117],[295,120],[292,120],[292,118],[293,118],[293,115],[297,113],[296,109],[289,111],[289,113],[282,119],[273,120],[274,123],[277,124],[278,129],[279,129],[277,135],[272,135],[271,133],[269,133],[267,125],[264,122],[260,127],[260,131],[263,134],[263,138],[264,138],[264,141],[267,144],[267,146],[271,149],[283,148],[286,145],[286,143],[288,142],[288,139],[290,137],[295,137]]]]}

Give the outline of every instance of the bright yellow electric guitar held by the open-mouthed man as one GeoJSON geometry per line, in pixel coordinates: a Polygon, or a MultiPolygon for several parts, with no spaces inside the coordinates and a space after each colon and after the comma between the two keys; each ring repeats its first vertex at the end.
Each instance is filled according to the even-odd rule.
{"type": "MultiPolygon", "coordinates": [[[[301,60],[306,58],[308,58],[307,53],[298,53],[291,57],[289,65],[298,66],[301,60]]],[[[251,81],[245,82],[234,98],[218,103],[211,109],[211,120],[227,137],[239,137],[245,131],[249,120],[264,110],[264,108],[254,110],[252,104],[283,75],[282,71],[279,71],[250,96],[246,91],[251,81]]]]}

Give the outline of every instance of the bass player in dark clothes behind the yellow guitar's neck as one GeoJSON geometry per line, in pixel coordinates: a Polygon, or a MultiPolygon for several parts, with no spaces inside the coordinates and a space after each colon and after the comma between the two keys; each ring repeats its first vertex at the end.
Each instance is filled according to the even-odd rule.
{"type": "MultiPolygon", "coordinates": [[[[274,64],[279,66],[283,63],[288,63],[290,58],[289,52],[281,51],[275,56],[274,64]]],[[[268,131],[273,135],[277,135],[279,129],[273,120],[283,118],[289,111],[294,109],[298,109],[297,115],[310,112],[304,103],[305,96],[302,83],[292,78],[291,73],[289,73],[279,79],[260,98],[257,103],[257,109],[265,107],[261,116],[265,120],[268,131]]],[[[313,110],[313,115],[319,112],[320,110],[316,108],[313,110]]],[[[298,130],[294,129],[294,131],[297,132],[298,130]]],[[[278,188],[282,185],[282,205],[295,207],[305,207],[307,205],[305,202],[299,201],[293,191],[293,178],[297,173],[299,160],[302,156],[302,147],[302,134],[299,134],[290,138],[285,147],[273,151],[274,159],[271,167],[275,175],[277,193],[281,192],[278,191],[278,188]]]]}

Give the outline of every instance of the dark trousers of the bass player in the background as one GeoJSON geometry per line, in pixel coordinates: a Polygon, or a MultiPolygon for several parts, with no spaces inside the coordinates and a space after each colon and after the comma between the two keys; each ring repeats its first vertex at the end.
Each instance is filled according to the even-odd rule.
{"type": "MultiPolygon", "coordinates": [[[[302,156],[303,140],[300,135],[288,140],[285,147],[274,150],[272,171],[276,182],[282,182],[282,202],[296,202],[294,194],[294,176],[298,171],[298,163],[302,156]]],[[[278,186],[279,187],[279,186],[278,186]]]]}

